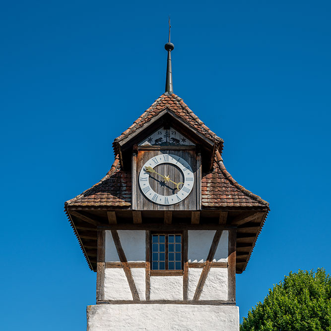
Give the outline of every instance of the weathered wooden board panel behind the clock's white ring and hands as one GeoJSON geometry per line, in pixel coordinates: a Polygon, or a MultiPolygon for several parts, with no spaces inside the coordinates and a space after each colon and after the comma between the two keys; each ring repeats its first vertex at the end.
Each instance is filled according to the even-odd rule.
{"type": "MultiPolygon", "coordinates": [[[[176,182],[184,182],[182,172],[173,165],[161,163],[153,166],[154,170],[159,174],[170,176],[176,182]]],[[[137,154],[132,157],[132,209],[134,210],[197,210],[200,209],[200,175],[201,160],[200,154],[197,155],[195,150],[138,150],[137,154]],[[172,154],[186,160],[192,167],[194,173],[194,187],[189,196],[172,205],[161,205],[147,199],[141,192],[139,187],[138,177],[143,165],[151,158],[162,154],[172,154]]],[[[149,184],[151,188],[160,195],[168,196],[176,193],[172,191],[175,185],[169,183],[164,185],[162,177],[157,175],[151,176],[149,184]]]]}

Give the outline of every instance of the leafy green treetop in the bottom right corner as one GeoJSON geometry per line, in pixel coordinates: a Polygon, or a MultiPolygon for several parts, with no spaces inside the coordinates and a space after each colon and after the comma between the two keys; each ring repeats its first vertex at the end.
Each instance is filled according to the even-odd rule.
{"type": "Polygon", "coordinates": [[[252,308],[240,331],[331,331],[331,277],[325,269],[290,272],[252,308]]]}

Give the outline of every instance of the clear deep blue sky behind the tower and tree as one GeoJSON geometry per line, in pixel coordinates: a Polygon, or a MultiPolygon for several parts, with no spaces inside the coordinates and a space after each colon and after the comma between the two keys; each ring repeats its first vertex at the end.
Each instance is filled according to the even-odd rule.
{"type": "Polygon", "coordinates": [[[330,262],[330,1],[6,1],[0,8],[1,325],[84,330],[96,275],[64,201],[164,92],[225,140],[227,170],[270,203],[241,317],[289,271],[330,262]]]}

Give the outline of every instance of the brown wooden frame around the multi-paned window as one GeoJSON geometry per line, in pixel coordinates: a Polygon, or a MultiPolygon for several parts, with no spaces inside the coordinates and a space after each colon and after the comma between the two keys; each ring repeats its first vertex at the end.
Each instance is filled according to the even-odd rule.
{"type": "Polygon", "coordinates": [[[184,231],[150,231],[149,233],[149,243],[150,243],[150,247],[149,247],[149,263],[150,263],[150,275],[151,276],[182,276],[184,274],[184,247],[185,245],[187,244],[184,240],[185,236],[184,236],[184,231]],[[165,238],[165,265],[166,267],[168,267],[168,263],[169,263],[169,260],[168,260],[168,235],[171,235],[171,234],[174,234],[174,235],[181,235],[182,237],[182,249],[181,249],[181,269],[180,270],[174,270],[174,269],[165,269],[165,270],[153,270],[152,269],[152,236],[153,235],[165,235],[166,238],[165,238]]]}

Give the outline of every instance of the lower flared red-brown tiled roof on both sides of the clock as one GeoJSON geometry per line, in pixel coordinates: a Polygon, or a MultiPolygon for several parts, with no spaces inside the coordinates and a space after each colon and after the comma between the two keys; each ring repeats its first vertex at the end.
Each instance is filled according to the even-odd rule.
{"type": "MultiPolygon", "coordinates": [[[[259,196],[239,185],[227,172],[223,160],[215,153],[213,171],[202,175],[201,194],[203,207],[267,207],[259,196]]],[[[121,207],[131,206],[131,173],[120,169],[118,156],[107,175],[89,190],[74,199],[69,206],[121,207]]]]}

